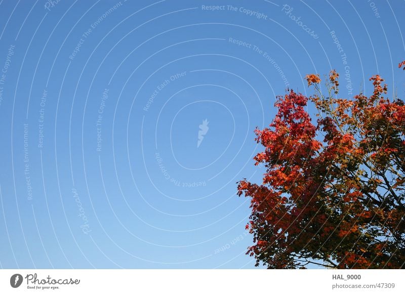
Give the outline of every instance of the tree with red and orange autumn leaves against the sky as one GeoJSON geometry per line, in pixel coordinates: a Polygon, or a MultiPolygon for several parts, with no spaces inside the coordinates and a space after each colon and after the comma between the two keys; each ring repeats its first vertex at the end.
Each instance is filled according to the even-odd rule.
{"type": "MultiPolygon", "coordinates": [[[[404,67],[405,61],[399,64],[404,67]]],[[[238,182],[237,194],[251,198],[246,229],[254,244],[247,254],[271,269],[404,268],[405,105],[383,95],[379,75],[374,93],[339,99],[339,74],[327,78],[323,96],[318,75],[306,76],[315,94],[288,90],[277,97],[278,112],[256,141],[264,151],[261,184],[238,182]],[[313,103],[316,124],[306,111],[313,103]]]]}

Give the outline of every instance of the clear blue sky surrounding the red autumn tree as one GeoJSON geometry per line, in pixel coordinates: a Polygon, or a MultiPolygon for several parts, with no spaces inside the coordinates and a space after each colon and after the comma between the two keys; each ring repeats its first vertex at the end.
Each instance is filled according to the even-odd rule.
{"type": "Polygon", "coordinates": [[[404,9],[1,1],[0,267],[254,268],[254,129],[331,68],[341,97],[380,74],[403,98],[404,9]]]}

